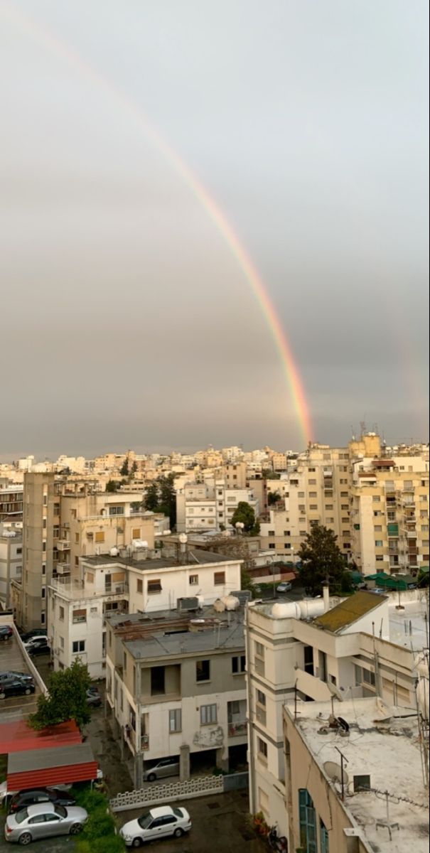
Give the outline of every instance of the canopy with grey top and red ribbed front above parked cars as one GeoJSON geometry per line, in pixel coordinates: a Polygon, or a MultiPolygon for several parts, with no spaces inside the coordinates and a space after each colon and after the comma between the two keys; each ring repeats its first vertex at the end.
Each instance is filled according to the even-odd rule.
{"type": "Polygon", "coordinates": [[[9,754],[9,791],[90,781],[96,775],[97,762],[88,743],[9,754]]]}

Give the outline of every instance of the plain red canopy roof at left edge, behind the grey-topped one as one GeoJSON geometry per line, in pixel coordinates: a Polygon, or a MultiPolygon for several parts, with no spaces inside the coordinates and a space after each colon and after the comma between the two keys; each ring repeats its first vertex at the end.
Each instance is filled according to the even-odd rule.
{"type": "Polygon", "coordinates": [[[81,742],[82,734],[74,720],[43,728],[39,732],[30,728],[26,720],[0,724],[0,755],[5,752],[46,749],[50,746],[71,746],[81,742]]]}

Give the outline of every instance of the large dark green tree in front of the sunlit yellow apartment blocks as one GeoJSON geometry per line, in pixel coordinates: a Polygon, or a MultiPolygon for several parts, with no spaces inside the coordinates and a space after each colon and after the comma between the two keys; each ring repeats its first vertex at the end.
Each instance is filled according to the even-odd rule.
{"type": "Polygon", "coordinates": [[[352,588],[345,560],[336,542],[334,531],[323,525],[312,525],[298,552],[301,562],[300,580],[314,595],[321,592],[323,583],[330,589],[344,592],[352,588]]]}

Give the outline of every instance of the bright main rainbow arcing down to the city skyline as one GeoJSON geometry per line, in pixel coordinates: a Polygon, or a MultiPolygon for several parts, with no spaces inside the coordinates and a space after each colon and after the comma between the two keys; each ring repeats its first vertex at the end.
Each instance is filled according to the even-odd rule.
{"type": "Polygon", "coordinates": [[[254,296],[263,312],[276,350],[281,358],[283,373],[285,374],[293,401],[293,409],[299,421],[302,438],[305,444],[307,444],[312,438],[311,413],[305,397],[305,389],[299,374],[299,368],[293,358],[293,351],[282,328],[282,323],[276,314],[275,307],[271,302],[267,288],[264,286],[261,276],[259,276],[258,270],[256,270],[251,258],[249,258],[247,251],[241,245],[241,241],[235,235],[235,231],[216,200],[212,198],[212,195],[208,192],[204,184],[200,182],[195,172],[177,154],[177,151],[171,148],[171,145],[166,142],[154,125],[148,122],[137,102],[120,89],[117,84],[105,78],[83,56],[78,54],[69,44],[50,32],[46,26],[41,26],[27,15],[23,15],[18,9],[12,8],[9,3],[4,3],[3,0],[0,2],[0,9],[13,24],[28,32],[32,38],[37,38],[52,53],[60,56],[62,60],[67,60],[85,78],[90,78],[94,84],[102,87],[110,96],[113,96],[121,104],[123,110],[131,113],[133,119],[139,121],[145,136],[148,136],[154,147],[163,154],[173,170],[183,178],[184,183],[188,184],[189,188],[193,191],[197,200],[200,201],[201,206],[204,207],[206,213],[216,225],[219,233],[224,237],[225,242],[230,247],[230,251],[241,267],[243,275],[253,289],[254,296]]]}

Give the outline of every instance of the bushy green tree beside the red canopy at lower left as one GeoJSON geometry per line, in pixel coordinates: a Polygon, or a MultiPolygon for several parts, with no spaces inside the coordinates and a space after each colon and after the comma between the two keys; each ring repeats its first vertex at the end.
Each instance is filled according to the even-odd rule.
{"type": "Polygon", "coordinates": [[[87,667],[80,660],[74,660],[66,670],[51,673],[48,695],[41,693],[38,696],[38,710],[29,717],[32,728],[47,728],[67,720],[75,720],[82,728],[90,722],[91,711],[86,695],[90,682],[87,667]]]}

